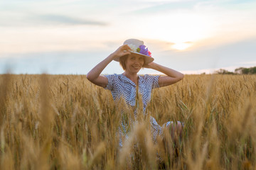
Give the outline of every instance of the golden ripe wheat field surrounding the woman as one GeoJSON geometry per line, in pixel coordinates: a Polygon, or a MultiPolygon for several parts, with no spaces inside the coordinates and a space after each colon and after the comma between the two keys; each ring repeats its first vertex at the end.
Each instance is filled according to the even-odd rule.
{"type": "Polygon", "coordinates": [[[256,169],[255,101],[255,75],[186,75],[154,89],[119,148],[132,112],[85,75],[1,74],[0,169],[256,169]],[[177,145],[151,140],[149,115],[184,123],[177,145]]]}

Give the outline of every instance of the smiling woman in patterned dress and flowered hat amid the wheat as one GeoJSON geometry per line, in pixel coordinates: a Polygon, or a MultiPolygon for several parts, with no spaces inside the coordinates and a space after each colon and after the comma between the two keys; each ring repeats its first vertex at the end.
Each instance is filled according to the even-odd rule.
{"type": "MultiPolygon", "coordinates": [[[[97,64],[88,74],[87,79],[97,86],[102,86],[105,89],[109,89],[112,92],[114,101],[124,97],[127,105],[134,107],[136,105],[137,94],[141,94],[143,102],[143,111],[146,111],[146,105],[151,99],[151,90],[162,86],[169,86],[183,79],[183,74],[170,69],[168,67],[156,64],[154,58],[151,57],[151,52],[144,45],[144,42],[137,39],[129,39],[124,41],[124,45],[119,47],[105,60],[97,64]],[[112,60],[120,62],[124,73],[112,74],[107,76],[101,76],[101,72],[107,64],[112,60]],[[150,76],[144,75],[139,76],[138,72],[143,67],[148,69],[154,69],[166,76],[150,76]],[[139,92],[139,93],[137,93],[139,92]]],[[[136,115],[137,111],[134,111],[136,115]]],[[[151,132],[153,138],[156,140],[157,135],[162,135],[164,127],[171,129],[171,136],[175,137],[175,132],[181,134],[182,125],[178,122],[178,125],[173,125],[173,122],[167,122],[162,127],[156,122],[153,117],[150,117],[151,132]]],[[[127,138],[127,130],[125,125],[122,123],[122,130],[119,129],[121,135],[125,135],[127,138]],[[122,134],[124,133],[124,134],[122,134]]],[[[120,147],[122,147],[122,137],[119,141],[120,147]]]]}

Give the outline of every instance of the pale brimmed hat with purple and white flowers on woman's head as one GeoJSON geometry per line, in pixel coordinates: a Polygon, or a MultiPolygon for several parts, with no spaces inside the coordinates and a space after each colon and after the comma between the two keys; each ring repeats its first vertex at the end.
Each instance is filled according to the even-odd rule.
{"type": "MultiPolygon", "coordinates": [[[[129,45],[132,49],[130,52],[132,55],[138,55],[144,57],[144,64],[149,64],[150,62],[154,61],[154,58],[151,57],[151,52],[149,52],[148,48],[144,45],[142,40],[137,39],[129,39],[124,41],[124,45],[129,45]]],[[[119,58],[115,58],[114,61],[119,62],[119,58]]]]}

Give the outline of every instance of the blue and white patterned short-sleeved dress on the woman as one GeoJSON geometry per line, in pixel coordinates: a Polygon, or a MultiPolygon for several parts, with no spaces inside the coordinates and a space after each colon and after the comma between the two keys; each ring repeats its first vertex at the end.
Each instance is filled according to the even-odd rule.
{"type": "MultiPolygon", "coordinates": [[[[125,77],[124,74],[111,74],[106,75],[108,79],[108,84],[105,89],[111,91],[114,101],[119,100],[119,98],[123,97],[129,106],[136,105],[136,94],[137,94],[137,86],[134,82],[125,77]]],[[[138,91],[139,94],[142,95],[142,102],[143,102],[143,110],[146,111],[146,105],[151,100],[151,91],[155,88],[159,88],[159,76],[151,76],[151,75],[144,75],[139,76],[139,87],[138,91]]],[[[136,111],[134,112],[136,114],[136,111]]],[[[153,140],[156,141],[157,135],[161,135],[163,132],[163,128],[169,126],[172,121],[164,123],[164,125],[160,126],[156,120],[150,116],[150,123],[151,123],[151,133],[153,136],[153,140]]],[[[121,123],[121,127],[119,128],[119,135],[124,136],[126,139],[129,138],[129,130],[126,128],[127,126],[124,125],[123,121],[121,123]]],[[[119,140],[119,146],[122,147],[122,137],[119,140]]]]}

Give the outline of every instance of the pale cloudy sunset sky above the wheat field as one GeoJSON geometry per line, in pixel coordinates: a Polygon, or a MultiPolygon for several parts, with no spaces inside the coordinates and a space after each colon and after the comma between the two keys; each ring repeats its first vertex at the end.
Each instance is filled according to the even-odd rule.
{"type": "Polygon", "coordinates": [[[255,67],[256,1],[0,0],[0,74],[87,74],[129,38],[183,74],[255,67]]]}

